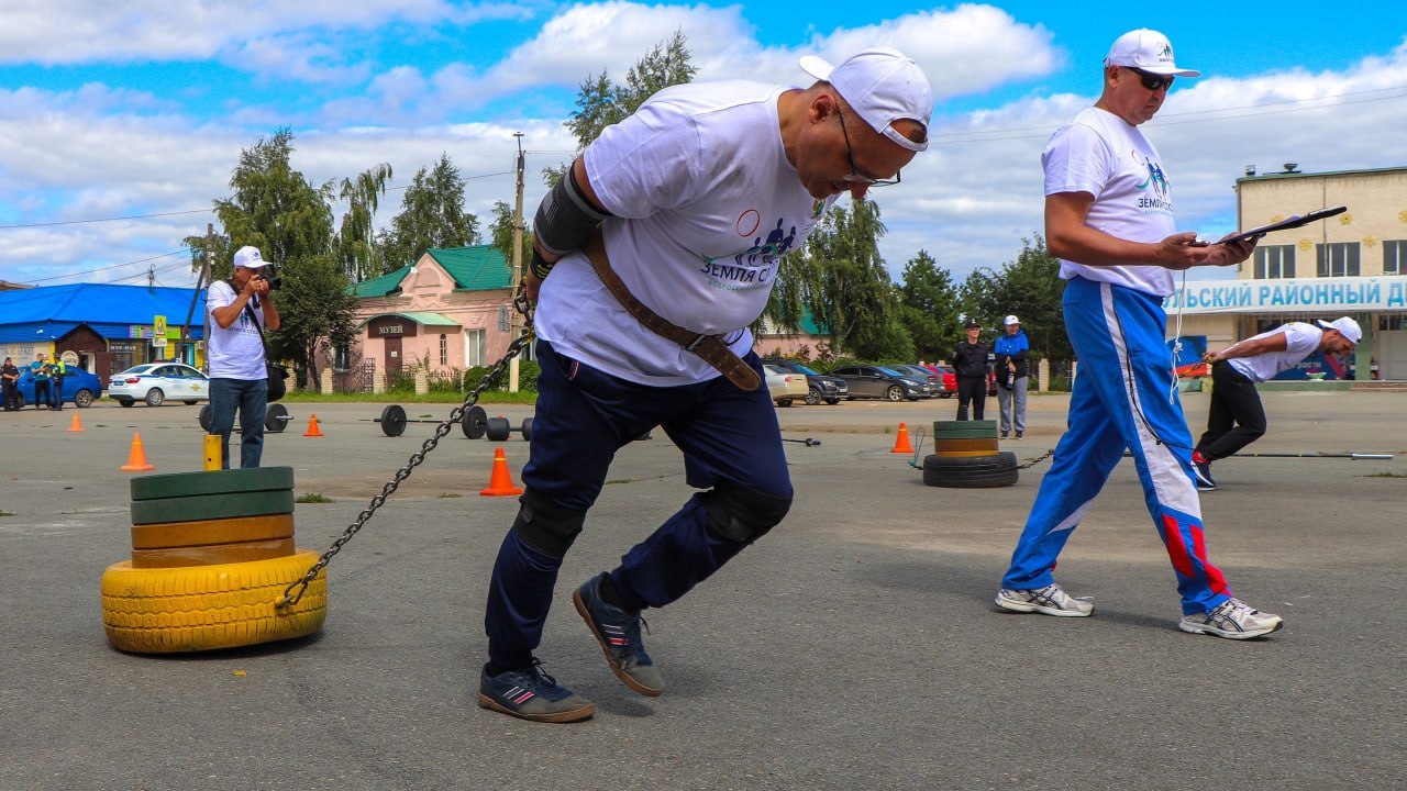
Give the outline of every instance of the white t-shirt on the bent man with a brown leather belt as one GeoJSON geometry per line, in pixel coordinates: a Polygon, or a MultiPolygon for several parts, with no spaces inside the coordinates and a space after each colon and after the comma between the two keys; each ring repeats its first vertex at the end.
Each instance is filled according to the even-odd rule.
{"type": "MultiPolygon", "coordinates": [[[[782,90],[753,82],[674,86],[608,127],[585,153],[587,176],[613,215],[602,222],[611,267],[646,307],[685,329],[725,335],[739,356],[782,255],[802,245],[834,198],[816,200],[787,160],[782,90]]],[[[677,386],[718,370],[640,325],[585,253],[543,281],[537,336],[629,381],[677,386]]]]}

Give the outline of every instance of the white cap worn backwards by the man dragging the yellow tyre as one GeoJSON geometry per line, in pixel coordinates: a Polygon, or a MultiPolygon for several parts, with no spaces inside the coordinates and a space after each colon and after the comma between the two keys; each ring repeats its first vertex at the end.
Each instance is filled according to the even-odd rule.
{"type": "Polygon", "coordinates": [[[870,124],[870,128],[909,151],[924,151],[929,141],[913,142],[892,127],[909,118],[923,124],[927,137],[933,117],[933,89],[923,69],[898,49],[875,46],[857,52],[832,66],[826,61],[806,55],[801,68],[817,80],[825,80],[844,97],[846,103],[870,124]]]}

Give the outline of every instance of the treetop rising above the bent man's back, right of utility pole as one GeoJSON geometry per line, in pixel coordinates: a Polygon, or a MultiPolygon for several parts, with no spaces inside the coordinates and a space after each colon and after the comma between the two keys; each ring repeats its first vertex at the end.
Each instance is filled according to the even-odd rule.
{"type": "MultiPolygon", "coordinates": [[[[668,41],[661,41],[636,61],[626,72],[625,84],[611,82],[606,72],[587,77],[577,90],[577,111],[563,125],[577,138],[577,151],[591,145],[601,131],[623,121],[646,99],[671,84],[694,82],[698,69],[689,62],[688,39],[675,30],[668,41]]],[[[543,182],[554,186],[567,172],[567,165],[545,167],[543,182]]]]}

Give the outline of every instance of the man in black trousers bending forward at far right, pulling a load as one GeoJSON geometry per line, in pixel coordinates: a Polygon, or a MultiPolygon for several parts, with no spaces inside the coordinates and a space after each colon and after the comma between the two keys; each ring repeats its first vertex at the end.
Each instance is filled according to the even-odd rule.
{"type": "Polygon", "coordinates": [[[1292,321],[1252,335],[1203,357],[1211,366],[1211,404],[1207,431],[1192,452],[1200,491],[1211,491],[1211,462],[1234,456],[1265,434],[1265,405],[1255,386],[1294,367],[1314,352],[1346,355],[1358,346],[1363,329],[1349,317],[1320,321],[1318,327],[1292,321]]]}

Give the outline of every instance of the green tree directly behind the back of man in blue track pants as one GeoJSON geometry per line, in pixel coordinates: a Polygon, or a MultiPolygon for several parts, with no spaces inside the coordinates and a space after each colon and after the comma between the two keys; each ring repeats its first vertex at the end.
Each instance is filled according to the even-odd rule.
{"type": "Polygon", "coordinates": [[[1075,353],[1065,335],[1059,259],[1045,249],[1040,234],[1021,239],[1021,252],[1000,270],[979,267],[962,284],[962,311],[999,332],[1002,318],[1016,314],[1031,343],[1031,357],[1069,360],[1075,353]]]}

